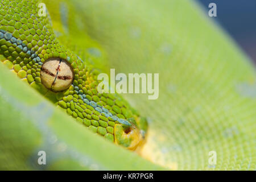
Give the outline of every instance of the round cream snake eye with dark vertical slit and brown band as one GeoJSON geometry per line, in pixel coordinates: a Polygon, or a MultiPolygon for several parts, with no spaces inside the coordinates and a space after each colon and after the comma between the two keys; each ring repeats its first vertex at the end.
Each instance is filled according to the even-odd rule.
{"type": "Polygon", "coordinates": [[[74,78],[71,66],[62,59],[49,59],[44,62],[40,76],[42,84],[54,92],[67,89],[74,78]]]}

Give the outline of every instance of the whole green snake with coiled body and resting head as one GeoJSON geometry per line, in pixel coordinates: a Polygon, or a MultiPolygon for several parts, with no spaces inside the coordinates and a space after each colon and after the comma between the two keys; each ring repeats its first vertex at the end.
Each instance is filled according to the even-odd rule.
{"type": "Polygon", "coordinates": [[[1,169],[255,169],[255,68],[199,5],[40,2],[0,3],[1,169]],[[110,68],[158,100],[98,93],[110,68]]]}

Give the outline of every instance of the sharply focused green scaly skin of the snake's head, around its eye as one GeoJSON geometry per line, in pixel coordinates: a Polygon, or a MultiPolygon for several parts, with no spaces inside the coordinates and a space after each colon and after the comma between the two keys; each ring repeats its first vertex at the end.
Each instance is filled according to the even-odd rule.
{"type": "MultiPolygon", "coordinates": [[[[0,55],[3,64],[94,133],[131,150],[137,148],[145,137],[146,119],[118,94],[98,93],[100,69],[89,63],[89,60],[94,62],[93,56],[81,59],[64,47],[56,38],[48,11],[46,16],[39,16],[38,12],[38,1],[0,3],[0,55]],[[73,72],[73,80],[60,77],[60,80],[72,80],[71,85],[60,89],[60,92],[52,89],[59,79],[60,68],[52,72],[42,69],[43,64],[52,59],[64,61],[73,72]],[[57,79],[49,89],[42,84],[43,74],[57,79]]],[[[64,16],[63,21],[65,18],[68,17],[64,16]]]]}

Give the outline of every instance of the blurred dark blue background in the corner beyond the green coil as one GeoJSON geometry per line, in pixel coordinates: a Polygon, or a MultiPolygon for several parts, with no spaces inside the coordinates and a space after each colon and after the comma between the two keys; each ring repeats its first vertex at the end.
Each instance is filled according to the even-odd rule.
{"type": "Polygon", "coordinates": [[[255,0],[197,0],[205,10],[216,3],[219,23],[256,65],[256,1],[255,0]]]}

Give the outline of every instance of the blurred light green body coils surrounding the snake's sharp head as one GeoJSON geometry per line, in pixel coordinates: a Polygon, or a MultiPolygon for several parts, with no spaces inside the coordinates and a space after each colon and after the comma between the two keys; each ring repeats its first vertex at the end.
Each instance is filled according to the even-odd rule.
{"type": "Polygon", "coordinates": [[[43,2],[59,43],[86,64],[159,73],[158,100],[124,96],[150,123],[140,152],[148,160],[73,122],[0,64],[1,169],[255,170],[255,67],[207,9],[191,0],[43,2]]]}

